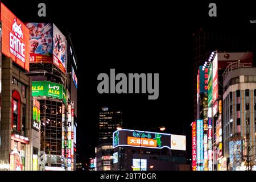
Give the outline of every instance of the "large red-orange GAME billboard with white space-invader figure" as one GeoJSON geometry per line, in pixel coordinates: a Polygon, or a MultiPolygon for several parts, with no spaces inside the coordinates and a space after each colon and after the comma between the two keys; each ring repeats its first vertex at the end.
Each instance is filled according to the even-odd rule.
{"type": "Polygon", "coordinates": [[[1,21],[2,53],[29,72],[28,28],[3,3],[1,3],[1,21]]]}

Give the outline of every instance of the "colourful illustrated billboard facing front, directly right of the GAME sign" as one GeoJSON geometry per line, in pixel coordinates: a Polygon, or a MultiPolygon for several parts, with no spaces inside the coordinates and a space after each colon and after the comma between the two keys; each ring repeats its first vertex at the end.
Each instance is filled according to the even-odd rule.
{"type": "Polygon", "coordinates": [[[30,63],[52,63],[52,23],[26,23],[30,63]]]}

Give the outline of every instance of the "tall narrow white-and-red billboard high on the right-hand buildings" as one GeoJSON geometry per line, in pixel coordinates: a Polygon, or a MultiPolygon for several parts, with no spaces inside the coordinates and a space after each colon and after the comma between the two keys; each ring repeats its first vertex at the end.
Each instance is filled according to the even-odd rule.
{"type": "Polygon", "coordinates": [[[212,102],[214,103],[218,99],[218,53],[216,54],[212,62],[212,76],[212,102]]]}

